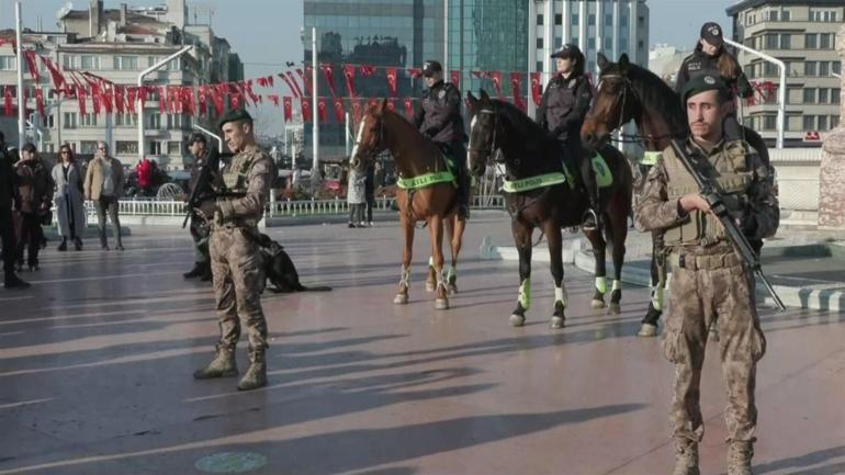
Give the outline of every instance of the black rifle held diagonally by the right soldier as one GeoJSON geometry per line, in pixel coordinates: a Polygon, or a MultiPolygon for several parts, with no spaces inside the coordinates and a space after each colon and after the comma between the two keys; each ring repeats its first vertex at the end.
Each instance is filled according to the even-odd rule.
{"type": "Polygon", "coordinates": [[[779,309],[786,310],[787,307],[784,305],[784,302],[775,292],[775,289],[771,287],[771,284],[766,279],[766,275],[763,274],[757,253],[754,252],[751,244],[748,244],[748,239],[745,238],[745,235],[736,226],[736,222],[734,222],[733,216],[731,216],[730,210],[724,204],[722,196],[719,194],[716,185],[711,180],[703,177],[701,172],[692,165],[689,159],[689,154],[687,154],[684,146],[678,144],[677,140],[672,140],[672,149],[675,150],[675,155],[677,155],[677,157],[680,159],[680,162],[684,163],[684,167],[686,167],[687,171],[689,171],[689,174],[691,174],[696,180],[696,184],[701,190],[701,196],[710,205],[710,211],[712,211],[716,217],[719,218],[719,222],[722,224],[725,233],[728,234],[728,239],[731,240],[731,244],[740,255],[740,258],[742,258],[745,264],[748,265],[752,271],[754,271],[754,275],[756,275],[757,279],[763,282],[763,285],[766,286],[766,290],[775,301],[775,305],[777,305],[779,309]]]}

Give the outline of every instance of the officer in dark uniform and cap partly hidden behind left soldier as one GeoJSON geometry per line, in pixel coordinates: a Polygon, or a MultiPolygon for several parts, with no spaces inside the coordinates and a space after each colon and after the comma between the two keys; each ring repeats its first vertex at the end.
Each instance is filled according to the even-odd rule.
{"type": "MultiPolygon", "coordinates": [[[[209,195],[214,192],[211,188],[211,181],[206,183],[200,183],[200,172],[203,168],[211,168],[212,174],[217,177],[219,168],[219,155],[216,150],[209,148],[209,143],[205,136],[194,133],[188,140],[188,147],[193,155],[193,163],[191,165],[191,181],[188,183],[188,191],[191,195],[196,191],[199,195],[209,195]],[[198,186],[200,188],[199,190],[198,186]]],[[[211,229],[205,223],[205,219],[200,217],[195,212],[191,212],[191,239],[194,245],[194,265],[193,269],[182,274],[184,279],[200,278],[202,282],[211,282],[211,256],[209,255],[209,236],[211,229]]]]}

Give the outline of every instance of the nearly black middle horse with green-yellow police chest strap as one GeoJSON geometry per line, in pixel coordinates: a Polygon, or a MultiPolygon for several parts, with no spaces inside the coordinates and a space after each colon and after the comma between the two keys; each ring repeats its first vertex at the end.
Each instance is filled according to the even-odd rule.
{"type": "MultiPolygon", "coordinates": [[[[576,170],[563,165],[562,148],[534,121],[515,105],[491,99],[481,91],[481,99],[467,94],[472,125],[467,166],[477,176],[484,173],[497,156],[505,165],[505,196],[511,216],[511,231],[519,252],[519,298],[510,316],[510,324],[522,326],[531,301],[531,250],[534,228],[545,235],[554,279],[554,309],[552,328],[563,328],[568,304],[563,284],[563,238],[561,228],[578,226],[589,206],[589,199],[579,189],[576,170]]],[[[585,150],[585,154],[587,151],[585,150]]],[[[622,298],[621,272],[624,260],[624,240],[628,236],[628,214],[631,211],[632,173],[624,156],[607,146],[601,148],[607,167],[612,173],[612,184],[600,193],[606,207],[601,210],[607,240],[598,230],[585,231],[596,259],[596,292],[594,308],[605,306],[606,248],[612,246],[615,276],[610,294],[610,308],[619,310],[622,298]]],[[[590,154],[589,157],[593,157],[590,154]]]]}

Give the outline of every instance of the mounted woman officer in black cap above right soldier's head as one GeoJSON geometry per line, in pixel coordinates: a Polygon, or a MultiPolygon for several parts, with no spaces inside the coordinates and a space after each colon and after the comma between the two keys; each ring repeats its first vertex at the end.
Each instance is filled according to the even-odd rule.
{"type": "Polygon", "coordinates": [[[740,63],[724,48],[722,27],[719,23],[708,22],[701,26],[696,49],[684,59],[675,79],[675,91],[680,95],[692,78],[711,75],[721,78],[731,92],[725,106],[729,108],[722,128],[724,138],[740,140],[744,138],[742,126],[736,118],[736,95],[746,99],[754,95],[748,78],[740,63]]]}

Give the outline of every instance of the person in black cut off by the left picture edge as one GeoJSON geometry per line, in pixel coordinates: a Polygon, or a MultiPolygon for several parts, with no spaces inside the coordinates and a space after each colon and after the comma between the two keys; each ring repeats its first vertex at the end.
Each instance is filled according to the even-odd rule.
{"type": "Polygon", "coordinates": [[[5,145],[5,136],[0,132],[0,237],[3,244],[3,287],[26,289],[29,283],[14,272],[14,256],[18,245],[14,236],[12,205],[16,206],[18,176],[12,166],[12,157],[5,145]]]}

